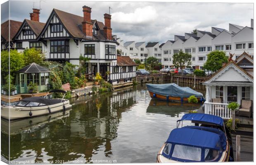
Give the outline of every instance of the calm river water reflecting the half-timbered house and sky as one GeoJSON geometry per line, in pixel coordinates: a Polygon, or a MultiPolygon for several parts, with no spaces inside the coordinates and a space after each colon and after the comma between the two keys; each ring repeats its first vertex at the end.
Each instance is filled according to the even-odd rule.
{"type": "MultiPolygon", "coordinates": [[[[205,94],[204,86],[196,90],[205,94]]],[[[71,99],[71,104],[65,115],[10,123],[10,163],[154,163],[176,121],[201,106],[151,99],[145,84],[71,99]]],[[[8,122],[1,119],[5,158],[7,132],[8,122]]]]}

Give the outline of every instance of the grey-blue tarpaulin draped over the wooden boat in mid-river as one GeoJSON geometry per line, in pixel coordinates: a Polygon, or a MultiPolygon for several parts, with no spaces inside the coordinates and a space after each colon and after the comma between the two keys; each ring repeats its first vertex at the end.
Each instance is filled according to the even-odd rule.
{"type": "Polygon", "coordinates": [[[155,94],[161,94],[163,96],[171,97],[204,97],[200,92],[192,90],[190,87],[180,87],[175,83],[171,84],[146,84],[147,90],[155,94]]]}

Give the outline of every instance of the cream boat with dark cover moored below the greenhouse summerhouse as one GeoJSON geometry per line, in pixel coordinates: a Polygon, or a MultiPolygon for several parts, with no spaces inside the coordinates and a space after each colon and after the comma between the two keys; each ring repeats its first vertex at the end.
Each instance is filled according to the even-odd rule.
{"type": "Polygon", "coordinates": [[[14,120],[20,118],[31,118],[40,115],[47,115],[59,111],[66,111],[71,108],[68,99],[64,99],[66,91],[52,90],[52,92],[62,92],[62,99],[45,99],[45,97],[28,97],[21,99],[16,106],[1,106],[1,117],[14,120]]]}

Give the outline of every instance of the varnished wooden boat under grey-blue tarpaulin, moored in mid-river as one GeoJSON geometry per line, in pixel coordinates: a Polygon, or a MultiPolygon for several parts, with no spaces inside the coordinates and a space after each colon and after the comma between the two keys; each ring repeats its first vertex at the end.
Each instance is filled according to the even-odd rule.
{"type": "Polygon", "coordinates": [[[190,87],[180,87],[171,84],[146,84],[150,97],[167,101],[188,102],[188,97],[194,95],[198,102],[204,101],[204,95],[190,87]]]}

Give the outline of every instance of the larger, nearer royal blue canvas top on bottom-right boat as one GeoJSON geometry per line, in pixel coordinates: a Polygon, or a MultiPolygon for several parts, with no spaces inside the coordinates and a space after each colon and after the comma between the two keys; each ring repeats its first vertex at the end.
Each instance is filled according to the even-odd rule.
{"type": "Polygon", "coordinates": [[[220,147],[222,147],[223,150],[226,149],[226,142],[220,139],[219,134],[186,127],[172,130],[166,142],[216,150],[220,150],[220,147]]]}

